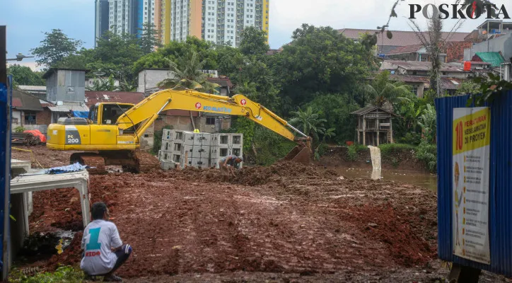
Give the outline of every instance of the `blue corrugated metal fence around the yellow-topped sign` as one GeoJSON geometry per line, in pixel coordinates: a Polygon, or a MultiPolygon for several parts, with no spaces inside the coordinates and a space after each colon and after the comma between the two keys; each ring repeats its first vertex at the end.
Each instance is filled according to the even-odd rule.
{"type": "Polygon", "coordinates": [[[453,108],[466,107],[468,96],[436,99],[438,150],[438,255],[441,260],[512,276],[512,91],[491,107],[489,166],[489,245],[491,265],[453,255],[452,120],[453,108]]]}

